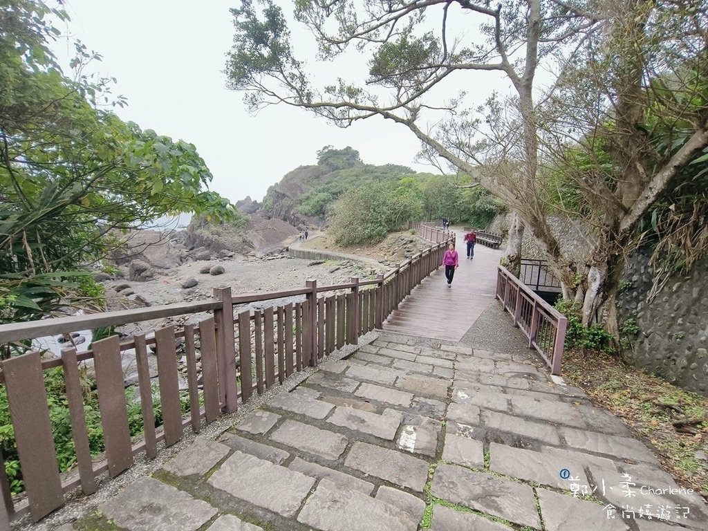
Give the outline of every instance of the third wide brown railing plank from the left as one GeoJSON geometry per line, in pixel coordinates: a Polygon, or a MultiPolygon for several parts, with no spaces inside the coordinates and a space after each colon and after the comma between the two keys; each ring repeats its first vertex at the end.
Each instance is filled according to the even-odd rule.
{"type": "Polygon", "coordinates": [[[180,440],[183,434],[174,326],[156,330],[155,343],[157,379],[160,383],[162,406],[162,430],[165,433],[165,446],[169,447],[180,440]]]}

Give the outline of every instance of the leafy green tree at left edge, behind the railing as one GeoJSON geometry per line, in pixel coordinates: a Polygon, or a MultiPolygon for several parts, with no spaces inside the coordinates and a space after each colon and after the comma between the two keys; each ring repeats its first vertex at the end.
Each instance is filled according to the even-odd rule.
{"type": "Polygon", "coordinates": [[[71,76],[50,42],[60,4],[0,0],[0,322],[32,319],[68,295],[67,271],[97,261],[120,235],[166,214],[229,218],[207,190],[193,144],[115,115],[114,80],[76,44],[71,76]]]}

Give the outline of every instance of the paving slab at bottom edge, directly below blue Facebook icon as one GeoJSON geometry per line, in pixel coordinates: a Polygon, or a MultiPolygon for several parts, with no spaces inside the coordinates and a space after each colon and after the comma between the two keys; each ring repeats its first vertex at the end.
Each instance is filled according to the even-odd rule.
{"type": "Polygon", "coordinates": [[[537,489],[546,531],[597,530],[627,531],[621,518],[607,518],[603,506],[573,496],[537,489]]]}

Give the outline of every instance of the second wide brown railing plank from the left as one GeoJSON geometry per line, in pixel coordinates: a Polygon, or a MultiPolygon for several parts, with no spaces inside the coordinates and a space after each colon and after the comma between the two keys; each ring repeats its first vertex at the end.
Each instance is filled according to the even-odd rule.
{"type": "Polygon", "coordinates": [[[115,477],[133,464],[118,336],[94,341],[93,367],[96,370],[108,475],[115,477]]]}

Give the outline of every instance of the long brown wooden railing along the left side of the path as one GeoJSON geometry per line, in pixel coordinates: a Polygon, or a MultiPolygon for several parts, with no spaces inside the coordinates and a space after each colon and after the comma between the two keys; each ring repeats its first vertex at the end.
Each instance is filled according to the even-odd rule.
{"type": "Polygon", "coordinates": [[[118,336],[110,336],[95,341],[91,350],[84,352],[67,348],[62,350],[61,358],[42,359],[35,351],[1,362],[0,381],[6,387],[26,496],[21,501],[13,500],[3,461],[0,527],[28,512],[33,520],[40,520],[62,506],[64,494],[76,487],[80,486],[86,495],[93,493],[96,476],[105,472],[117,476],[132,466],[135,455],[143,452],[149,459],[155,457],[159,442],[166,447],[173,445],[183,437],[184,428],[198,433],[202,421],[209,424],[222,414],[233,413],[239,400],[246,402],[254,393],[282,384],[303,367],[316,366],[334,350],[356,344],[362,334],[380,329],[413,287],[438,269],[447,243],[440,241],[373,280],[352,278],[350,282],[324,287],[309,280],[304,288],[258,295],[234,296],[230,288],[222,288],[215,290],[215,298],[210,300],[0,326],[0,343],[11,343],[99,326],[201,314],[194,324],[136,333],[122,342],[118,336]],[[324,293],[331,295],[321,296],[324,293]],[[238,308],[240,304],[275,299],[285,302],[256,311],[238,308]],[[177,352],[181,343],[190,404],[185,416],[178,385],[177,352]],[[163,421],[159,427],[154,423],[149,348],[154,349],[158,368],[163,421]],[[144,426],[140,440],[131,440],[128,426],[121,364],[121,356],[127,350],[135,352],[137,365],[144,426]],[[89,451],[79,381],[81,362],[92,362],[96,373],[105,447],[105,455],[98,462],[89,451]],[[76,450],[76,471],[65,478],[59,474],[45,390],[44,372],[52,367],[63,370],[76,450]]]}

